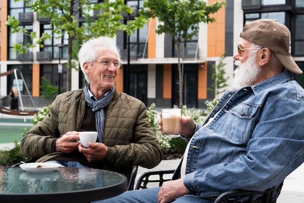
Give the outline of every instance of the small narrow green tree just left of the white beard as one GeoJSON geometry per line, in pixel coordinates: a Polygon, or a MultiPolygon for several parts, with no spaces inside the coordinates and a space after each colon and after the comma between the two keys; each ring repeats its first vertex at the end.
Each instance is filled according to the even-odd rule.
{"type": "Polygon", "coordinates": [[[229,79],[229,77],[225,77],[225,65],[227,63],[224,63],[223,60],[226,57],[226,53],[224,53],[221,57],[220,57],[220,62],[217,66],[213,65],[212,66],[212,79],[214,80],[214,83],[211,85],[212,88],[207,88],[208,91],[210,91],[212,94],[215,94],[216,96],[222,92],[225,92],[225,87],[228,86],[227,84],[227,80],[229,79]]]}

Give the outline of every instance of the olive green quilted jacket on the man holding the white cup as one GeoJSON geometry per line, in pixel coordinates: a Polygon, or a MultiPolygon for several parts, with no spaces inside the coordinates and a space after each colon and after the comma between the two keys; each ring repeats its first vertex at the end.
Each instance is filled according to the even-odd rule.
{"type": "MultiPolygon", "coordinates": [[[[58,95],[51,104],[49,115],[22,139],[23,156],[38,159],[37,162],[64,156],[63,152],[52,152],[52,141],[68,131],[79,131],[84,111],[83,89],[58,95]]],[[[108,156],[104,160],[104,169],[129,178],[133,165],[152,168],[160,163],[162,152],[144,103],[116,90],[105,113],[103,143],[108,147],[108,156]]]]}

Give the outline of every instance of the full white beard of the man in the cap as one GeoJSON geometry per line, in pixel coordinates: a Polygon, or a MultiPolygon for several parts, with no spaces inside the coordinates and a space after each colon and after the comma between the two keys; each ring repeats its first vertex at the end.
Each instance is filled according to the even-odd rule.
{"type": "Polygon", "coordinates": [[[261,72],[261,68],[256,63],[256,58],[253,54],[249,54],[247,60],[243,63],[236,60],[235,65],[238,66],[238,68],[234,71],[234,89],[253,85],[256,76],[261,72]]]}

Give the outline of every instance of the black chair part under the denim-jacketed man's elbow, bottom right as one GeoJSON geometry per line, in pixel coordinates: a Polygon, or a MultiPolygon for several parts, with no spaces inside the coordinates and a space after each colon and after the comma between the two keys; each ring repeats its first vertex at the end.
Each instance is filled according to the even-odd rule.
{"type": "Polygon", "coordinates": [[[222,193],[214,203],[239,203],[244,197],[249,199],[243,203],[276,203],[283,182],[265,191],[234,190],[222,193]]]}

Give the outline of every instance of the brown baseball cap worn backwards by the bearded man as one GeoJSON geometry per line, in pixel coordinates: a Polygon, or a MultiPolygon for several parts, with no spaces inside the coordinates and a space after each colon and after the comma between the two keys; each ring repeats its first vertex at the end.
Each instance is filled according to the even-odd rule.
{"type": "Polygon", "coordinates": [[[275,19],[246,22],[240,37],[268,48],[289,71],[296,74],[303,73],[291,57],[290,31],[284,24],[275,19]]]}

